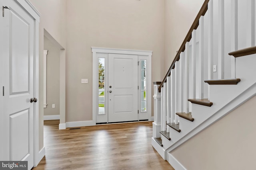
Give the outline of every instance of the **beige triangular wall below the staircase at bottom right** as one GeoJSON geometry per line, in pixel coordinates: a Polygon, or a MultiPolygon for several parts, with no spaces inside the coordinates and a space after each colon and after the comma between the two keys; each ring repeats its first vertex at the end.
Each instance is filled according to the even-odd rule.
{"type": "Polygon", "coordinates": [[[208,127],[172,155],[188,170],[255,169],[256,96],[208,127]]]}

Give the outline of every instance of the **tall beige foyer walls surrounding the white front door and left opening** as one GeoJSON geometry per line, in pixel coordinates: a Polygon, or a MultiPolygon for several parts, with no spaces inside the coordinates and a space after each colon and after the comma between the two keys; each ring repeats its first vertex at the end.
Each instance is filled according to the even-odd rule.
{"type": "Polygon", "coordinates": [[[87,121],[92,120],[91,47],[151,50],[152,81],[161,81],[203,3],[203,0],[30,1],[42,14],[40,148],[43,147],[44,29],[67,49],[66,122],[87,121]],[[88,78],[89,83],[81,84],[81,78],[88,78]]]}

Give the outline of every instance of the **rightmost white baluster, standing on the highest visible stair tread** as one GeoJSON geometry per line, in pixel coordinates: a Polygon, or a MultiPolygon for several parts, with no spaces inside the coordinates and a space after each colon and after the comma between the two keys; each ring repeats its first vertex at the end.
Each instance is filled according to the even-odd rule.
{"type": "Polygon", "coordinates": [[[246,45],[247,47],[255,46],[255,1],[247,1],[247,31],[246,45]]]}

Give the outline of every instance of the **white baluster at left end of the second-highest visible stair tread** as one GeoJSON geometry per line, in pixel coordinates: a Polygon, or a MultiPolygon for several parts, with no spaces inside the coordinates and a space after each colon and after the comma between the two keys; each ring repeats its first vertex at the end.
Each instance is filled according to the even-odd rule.
{"type": "MultiPolygon", "coordinates": [[[[208,80],[213,79],[213,0],[208,3],[208,80]]],[[[210,85],[208,85],[208,100],[210,100],[210,85]]]]}

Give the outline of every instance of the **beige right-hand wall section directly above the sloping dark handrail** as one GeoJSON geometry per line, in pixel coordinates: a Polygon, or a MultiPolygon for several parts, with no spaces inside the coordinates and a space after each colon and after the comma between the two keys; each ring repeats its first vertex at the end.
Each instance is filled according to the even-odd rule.
{"type": "Polygon", "coordinates": [[[169,69],[204,0],[165,0],[165,71],[169,69]]]}

